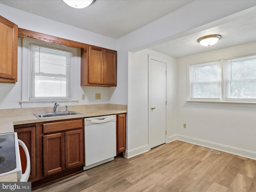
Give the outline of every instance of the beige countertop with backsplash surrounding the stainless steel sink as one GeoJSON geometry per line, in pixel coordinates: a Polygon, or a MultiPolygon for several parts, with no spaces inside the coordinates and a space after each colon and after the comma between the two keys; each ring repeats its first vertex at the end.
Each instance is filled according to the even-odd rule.
{"type": "Polygon", "coordinates": [[[0,134],[14,132],[14,125],[126,113],[127,106],[115,104],[98,104],[84,106],[69,106],[68,110],[80,112],[82,114],[49,118],[37,118],[36,116],[34,116],[34,113],[52,112],[52,108],[45,107],[40,108],[40,110],[38,110],[38,108],[1,110],[0,114],[4,115],[0,116],[0,134]]]}

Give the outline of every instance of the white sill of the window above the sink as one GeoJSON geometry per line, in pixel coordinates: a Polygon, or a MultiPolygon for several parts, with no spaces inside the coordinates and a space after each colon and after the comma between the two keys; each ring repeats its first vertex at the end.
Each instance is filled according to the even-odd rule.
{"type": "MultiPolygon", "coordinates": [[[[20,101],[21,108],[30,108],[30,107],[52,107],[54,103],[68,103],[69,105],[76,105],[79,103],[78,100],[37,100],[37,101],[20,101]]],[[[63,104],[63,105],[64,105],[63,104]]]]}

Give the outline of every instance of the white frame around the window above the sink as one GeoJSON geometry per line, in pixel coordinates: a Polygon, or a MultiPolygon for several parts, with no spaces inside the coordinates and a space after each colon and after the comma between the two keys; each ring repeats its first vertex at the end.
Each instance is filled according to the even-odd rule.
{"type": "Polygon", "coordinates": [[[36,104],[40,104],[41,106],[48,106],[49,103],[52,102],[58,102],[58,101],[65,101],[65,102],[70,102],[74,101],[73,95],[72,95],[72,87],[74,87],[74,65],[77,63],[77,57],[78,57],[78,48],[73,48],[73,47],[66,47],[62,45],[57,45],[53,43],[47,43],[43,42],[37,39],[33,39],[30,37],[25,37],[22,38],[22,100],[20,103],[22,104],[23,107],[33,107],[33,106],[38,106],[36,104]],[[47,46],[47,47],[52,47],[52,48],[57,48],[57,49],[62,49],[62,50],[67,50],[72,52],[72,67],[71,67],[71,97],[70,98],[48,98],[46,100],[42,99],[32,99],[30,100],[30,85],[29,85],[29,55],[30,55],[30,50],[29,50],[29,44],[37,44],[41,46],[47,46]],[[48,105],[47,105],[48,104],[48,105]]]}

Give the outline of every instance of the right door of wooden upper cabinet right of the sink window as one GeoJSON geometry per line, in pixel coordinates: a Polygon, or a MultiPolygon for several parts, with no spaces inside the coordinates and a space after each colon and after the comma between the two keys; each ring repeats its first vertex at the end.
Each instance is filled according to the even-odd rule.
{"type": "Polygon", "coordinates": [[[116,86],[116,51],[104,49],[104,84],[116,86]]]}

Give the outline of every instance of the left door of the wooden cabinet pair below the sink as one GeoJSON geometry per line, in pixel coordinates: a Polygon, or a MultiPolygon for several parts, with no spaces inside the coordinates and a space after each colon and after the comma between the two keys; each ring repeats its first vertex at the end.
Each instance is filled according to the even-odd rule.
{"type": "Polygon", "coordinates": [[[43,166],[44,176],[65,169],[64,133],[43,136],[43,166]]]}

